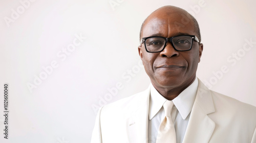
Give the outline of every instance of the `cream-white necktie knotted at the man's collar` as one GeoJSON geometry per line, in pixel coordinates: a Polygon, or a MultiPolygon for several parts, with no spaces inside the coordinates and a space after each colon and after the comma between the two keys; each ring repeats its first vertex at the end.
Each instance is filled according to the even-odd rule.
{"type": "Polygon", "coordinates": [[[173,101],[169,100],[166,100],[166,102],[163,104],[165,117],[159,126],[156,143],[176,143],[176,133],[174,128],[174,118],[176,112],[172,114],[172,116],[174,116],[173,120],[171,117],[173,106],[173,101]]]}

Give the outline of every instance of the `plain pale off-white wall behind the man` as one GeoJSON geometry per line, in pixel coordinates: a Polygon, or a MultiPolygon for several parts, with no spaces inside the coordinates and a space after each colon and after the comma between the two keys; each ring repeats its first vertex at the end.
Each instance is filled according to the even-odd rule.
{"type": "Polygon", "coordinates": [[[204,44],[197,73],[201,81],[256,106],[255,4],[252,0],[37,0],[24,8],[19,1],[1,0],[0,142],[90,142],[99,104],[149,85],[139,66],[139,30],[151,12],[165,5],[181,7],[199,22],[204,44]],[[19,12],[15,19],[13,11],[19,12]],[[75,35],[87,38],[66,59],[57,56],[75,35]],[[247,51],[246,39],[254,41],[247,51]],[[42,67],[54,61],[58,66],[35,85],[35,77],[45,72],[42,67]],[[221,74],[222,66],[227,72],[221,74]],[[9,139],[3,134],[4,83],[9,83],[9,139]],[[36,88],[30,92],[28,84],[36,88]],[[116,84],[122,89],[114,96],[108,89],[114,91],[116,84]]]}

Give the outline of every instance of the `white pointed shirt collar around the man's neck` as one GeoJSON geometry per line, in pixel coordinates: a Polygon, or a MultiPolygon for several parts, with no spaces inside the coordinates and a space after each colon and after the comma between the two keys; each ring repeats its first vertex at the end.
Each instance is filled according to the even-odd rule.
{"type": "MultiPolygon", "coordinates": [[[[162,108],[166,99],[161,96],[161,94],[156,90],[156,88],[150,85],[150,107],[148,111],[148,117],[150,120],[157,114],[157,112],[162,108]]],[[[190,84],[185,90],[183,90],[178,97],[176,97],[173,102],[183,120],[188,116],[192,110],[193,104],[196,99],[198,88],[198,79],[190,84]]]]}

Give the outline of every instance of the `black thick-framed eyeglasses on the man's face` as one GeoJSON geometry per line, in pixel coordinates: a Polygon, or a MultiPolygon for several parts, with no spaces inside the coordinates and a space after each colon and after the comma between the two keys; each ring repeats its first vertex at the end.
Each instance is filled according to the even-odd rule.
{"type": "Polygon", "coordinates": [[[149,53],[162,52],[168,41],[173,45],[176,51],[188,51],[191,50],[194,40],[199,42],[195,35],[181,35],[169,38],[151,36],[142,38],[140,44],[144,43],[146,52],[149,53]]]}

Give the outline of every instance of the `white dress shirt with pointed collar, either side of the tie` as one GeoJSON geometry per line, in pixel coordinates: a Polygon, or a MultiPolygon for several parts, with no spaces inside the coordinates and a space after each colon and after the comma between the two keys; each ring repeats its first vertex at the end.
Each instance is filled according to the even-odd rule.
{"type": "MultiPolygon", "coordinates": [[[[177,143],[181,143],[183,141],[190,111],[196,99],[197,88],[198,79],[196,78],[191,85],[189,85],[173,100],[175,105],[174,108],[177,108],[174,122],[177,143]]],[[[163,109],[165,101],[166,99],[162,97],[151,84],[150,106],[148,110],[148,143],[156,142],[158,128],[165,116],[163,109]]]]}

